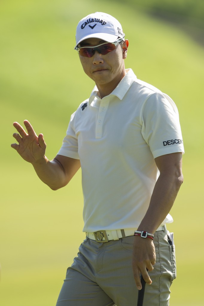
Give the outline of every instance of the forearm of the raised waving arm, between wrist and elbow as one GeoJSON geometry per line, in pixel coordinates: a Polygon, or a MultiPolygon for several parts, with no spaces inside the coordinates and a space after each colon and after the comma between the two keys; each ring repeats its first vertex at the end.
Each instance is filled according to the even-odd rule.
{"type": "Polygon", "coordinates": [[[49,161],[44,156],[37,162],[32,163],[32,166],[40,180],[53,190],[57,190],[68,183],[65,171],[56,159],[49,161]]]}

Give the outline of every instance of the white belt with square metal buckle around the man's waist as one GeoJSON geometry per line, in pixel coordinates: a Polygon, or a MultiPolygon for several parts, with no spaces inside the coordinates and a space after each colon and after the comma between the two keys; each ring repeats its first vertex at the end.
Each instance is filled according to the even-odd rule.
{"type": "MultiPolygon", "coordinates": [[[[166,225],[159,226],[156,232],[160,230],[166,231],[166,225]]],[[[93,233],[86,233],[86,236],[97,242],[108,242],[109,240],[119,240],[120,238],[133,236],[134,232],[135,228],[126,230],[99,230],[93,233]]]]}

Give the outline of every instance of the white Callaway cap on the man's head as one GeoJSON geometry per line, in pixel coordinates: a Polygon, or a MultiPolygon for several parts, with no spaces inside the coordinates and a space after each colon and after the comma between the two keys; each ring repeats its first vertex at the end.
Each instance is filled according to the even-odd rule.
{"type": "Polygon", "coordinates": [[[76,47],[87,38],[100,38],[114,43],[118,37],[124,37],[119,21],[106,13],[96,12],[81,19],[77,25],[76,47]]]}

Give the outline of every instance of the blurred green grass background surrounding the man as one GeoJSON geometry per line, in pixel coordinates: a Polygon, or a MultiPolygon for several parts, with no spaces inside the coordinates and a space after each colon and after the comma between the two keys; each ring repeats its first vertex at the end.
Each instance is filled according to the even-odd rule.
{"type": "Polygon", "coordinates": [[[84,239],[80,171],[52,191],[10,144],[13,121],[28,119],[43,132],[47,157],[58,152],[70,115],[94,85],[73,48],[78,21],[95,11],[121,22],[130,42],[126,68],[170,95],[179,109],[186,153],[168,226],[177,256],[170,304],[203,305],[202,0],[0,2],[0,305],[55,305],[84,239]]]}

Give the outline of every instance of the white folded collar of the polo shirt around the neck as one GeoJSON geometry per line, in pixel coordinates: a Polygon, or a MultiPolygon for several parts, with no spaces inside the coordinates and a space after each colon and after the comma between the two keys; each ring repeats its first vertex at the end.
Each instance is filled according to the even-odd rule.
{"type": "MultiPolygon", "coordinates": [[[[137,76],[134,74],[132,69],[126,69],[126,75],[123,77],[123,79],[120,81],[120,83],[116,86],[116,88],[111,92],[110,95],[115,95],[120,100],[123,99],[124,95],[134,82],[134,80],[137,79],[137,76]]],[[[98,95],[98,88],[97,86],[94,86],[93,91],[89,98],[89,105],[93,102],[94,98],[101,99],[98,95]]]]}

